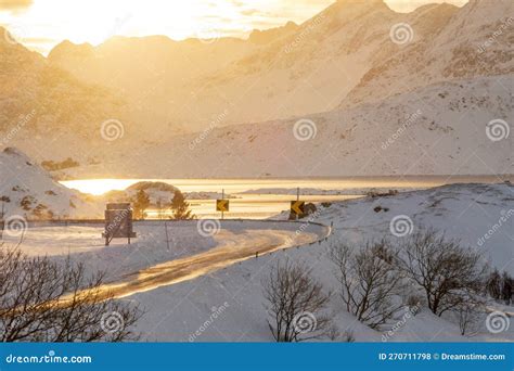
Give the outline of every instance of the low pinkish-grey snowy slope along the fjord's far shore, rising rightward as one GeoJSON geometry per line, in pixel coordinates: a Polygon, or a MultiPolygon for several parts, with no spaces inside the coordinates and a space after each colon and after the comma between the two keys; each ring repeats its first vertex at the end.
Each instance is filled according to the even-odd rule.
{"type": "Polygon", "coordinates": [[[123,153],[111,163],[68,174],[139,178],[514,174],[514,136],[492,141],[487,129],[494,119],[507,126],[514,123],[514,78],[503,76],[502,81],[490,77],[436,84],[380,104],[180,136],[165,144],[141,146],[130,162],[124,162],[123,153]]]}

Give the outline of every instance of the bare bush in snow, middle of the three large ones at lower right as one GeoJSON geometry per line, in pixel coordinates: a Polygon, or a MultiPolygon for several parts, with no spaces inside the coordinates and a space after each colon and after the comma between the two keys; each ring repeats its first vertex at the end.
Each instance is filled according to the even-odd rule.
{"type": "Polygon", "coordinates": [[[396,270],[393,250],[385,241],[367,243],[362,248],[336,245],[331,258],[346,310],[359,321],[376,329],[402,308],[398,298],[403,278],[396,270]]]}

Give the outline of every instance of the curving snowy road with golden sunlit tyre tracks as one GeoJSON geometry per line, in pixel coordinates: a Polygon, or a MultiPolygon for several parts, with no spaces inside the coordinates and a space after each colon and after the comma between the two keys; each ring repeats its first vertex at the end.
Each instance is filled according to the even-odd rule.
{"type": "Polygon", "coordinates": [[[248,228],[242,229],[239,222],[239,229],[234,230],[230,228],[230,222],[223,222],[222,229],[214,236],[216,247],[127,274],[120,282],[105,284],[102,291],[106,297],[126,297],[214,272],[237,261],[255,258],[256,253],[261,256],[314,243],[331,233],[329,227],[312,223],[283,222],[273,223],[270,229],[262,227],[264,223],[252,222],[248,228]]]}

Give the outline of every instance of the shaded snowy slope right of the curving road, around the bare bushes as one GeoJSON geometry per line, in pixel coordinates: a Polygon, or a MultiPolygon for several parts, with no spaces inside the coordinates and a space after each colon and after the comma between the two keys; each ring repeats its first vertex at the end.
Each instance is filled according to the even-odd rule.
{"type": "MultiPolygon", "coordinates": [[[[394,334],[386,337],[388,342],[514,340],[512,325],[504,332],[493,334],[486,329],[485,318],[478,321],[478,333],[467,337],[460,334],[453,318],[437,317],[427,308],[407,319],[403,314],[398,314],[382,331],[363,325],[344,309],[336,294],[338,283],[333,273],[334,266],[327,258],[330,246],[342,241],[358,245],[373,239],[399,239],[390,233],[390,221],[400,215],[412,220],[411,231],[434,227],[448,236],[460,239],[463,245],[479,250],[484,258],[498,269],[514,272],[514,187],[448,186],[333,204],[316,219],[334,223],[333,235],[326,243],[277,252],[189,282],[133,295],[127,299],[140,303],[147,310],[138,330],[142,331],[146,341],[273,341],[262,306],[261,280],[268,277],[278,260],[288,258],[311,267],[312,274],[325,290],[334,291],[331,312],[337,329],[343,333],[350,331],[357,342],[382,342],[387,329],[395,325],[394,334]],[[383,209],[376,212],[377,206],[383,209]],[[506,221],[499,221],[501,218],[506,221]],[[479,242],[485,234],[489,235],[486,243],[479,242]],[[162,308],[167,308],[165,315],[162,308]],[[223,308],[222,314],[219,308],[223,308]],[[197,331],[200,335],[195,335],[197,331]]],[[[492,307],[502,308],[499,304],[492,304],[492,307]]]]}

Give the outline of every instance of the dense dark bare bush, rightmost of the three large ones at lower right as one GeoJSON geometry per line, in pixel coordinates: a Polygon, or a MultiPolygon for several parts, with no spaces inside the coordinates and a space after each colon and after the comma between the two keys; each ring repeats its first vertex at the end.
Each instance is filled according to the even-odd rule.
{"type": "Polygon", "coordinates": [[[398,266],[424,291],[428,308],[437,316],[478,296],[485,286],[487,268],[480,255],[432,229],[404,240],[398,266]]]}

